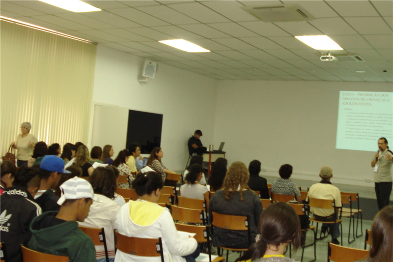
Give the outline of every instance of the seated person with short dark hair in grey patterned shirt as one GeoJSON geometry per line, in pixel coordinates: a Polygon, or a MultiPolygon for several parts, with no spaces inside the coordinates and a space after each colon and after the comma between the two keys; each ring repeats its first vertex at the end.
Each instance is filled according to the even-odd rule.
{"type": "Polygon", "coordinates": [[[299,187],[289,177],[292,175],[292,166],[289,164],[282,165],[279,170],[281,178],[273,182],[270,188],[274,194],[295,195],[296,201],[302,203],[299,187]]]}

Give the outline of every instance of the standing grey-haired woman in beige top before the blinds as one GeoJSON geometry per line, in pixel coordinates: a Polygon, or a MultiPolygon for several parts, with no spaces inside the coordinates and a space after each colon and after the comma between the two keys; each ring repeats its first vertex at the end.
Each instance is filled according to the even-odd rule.
{"type": "Polygon", "coordinates": [[[18,150],[16,154],[16,163],[18,167],[28,163],[28,159],[33,154],[34,146],[37,144],[37,139],[29,134],[31,124],[29,122],[23,122],[21,124],[21,134],[16,138],[16,142],[12,142],[11,146],[14,146],[18,150]]]}

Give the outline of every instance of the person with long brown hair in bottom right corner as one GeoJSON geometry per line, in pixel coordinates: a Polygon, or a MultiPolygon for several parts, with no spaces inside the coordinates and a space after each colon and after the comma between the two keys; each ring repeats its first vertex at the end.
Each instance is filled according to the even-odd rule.
{"type": "Polygon", "coordinates": [[[359,262],[393,261],[393,205],[385,206],[376,214],[370,231],[368,258],[359,262]]]}

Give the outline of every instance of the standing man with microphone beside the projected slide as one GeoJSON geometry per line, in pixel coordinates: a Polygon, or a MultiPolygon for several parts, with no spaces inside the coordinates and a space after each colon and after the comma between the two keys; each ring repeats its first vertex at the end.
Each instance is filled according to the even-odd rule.
{"type": "Polygon", "coordinates": [[[381,210],[389,205],[392,192],[393,152],[389,150],[388,140],[384,137],[378,139],[378,148],[379,150],[371,161],[371,167],[374,168],[375,194],[378,208],[381,210]]]}

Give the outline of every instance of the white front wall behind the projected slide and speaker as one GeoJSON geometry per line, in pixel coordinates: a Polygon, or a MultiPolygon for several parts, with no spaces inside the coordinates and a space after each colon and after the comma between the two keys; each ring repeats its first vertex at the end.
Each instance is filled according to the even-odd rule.
{"type": "MultiPolygon", "coordinates": [[[[291,164],[293,178],[318,181],[322,166],[336,183],[373,186],[373,152],[335,149],[340,90],[392,92],[392,83],[220,81],[214,143],[225,141],[228,162],[253,159],[278,176],[291,164]]],[[[393,145],[393,141],[391,141],[393,145]]],[[[375,150],[377,150],[375,141],[375,150]]]]}

